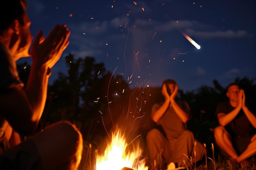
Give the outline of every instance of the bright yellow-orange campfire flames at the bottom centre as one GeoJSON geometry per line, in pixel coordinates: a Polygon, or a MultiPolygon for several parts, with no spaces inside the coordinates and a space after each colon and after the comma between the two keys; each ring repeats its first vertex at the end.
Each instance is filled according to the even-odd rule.
{"type": "Polygon", "coordinates": [[[140,148],[134,148],[132,152],[126,152],[128,144],[124,135],[117,132],[116,136],[112,134],[112,142],[104,152],[104,155],[97,155],[96,169],[97,170],[121,170],[124,167],[132,168],[133,170],[148,170],[145,166],[145,160],[139,161],[140,148]]]}

